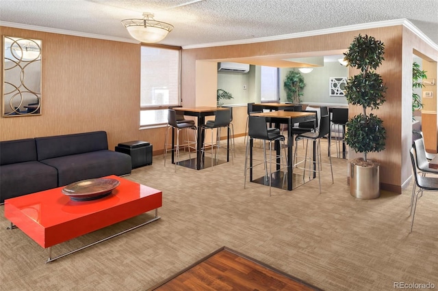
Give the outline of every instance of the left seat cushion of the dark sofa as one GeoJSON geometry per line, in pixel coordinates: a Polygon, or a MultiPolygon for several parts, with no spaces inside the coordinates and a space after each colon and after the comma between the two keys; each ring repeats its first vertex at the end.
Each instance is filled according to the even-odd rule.
{"type": "Polygon", "coordinates": [[[18,197],[57,187],[54,167],[37,161],[1,165],[0,203],[18,197]]]}

